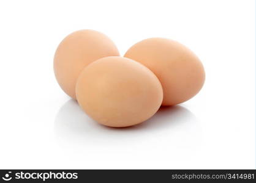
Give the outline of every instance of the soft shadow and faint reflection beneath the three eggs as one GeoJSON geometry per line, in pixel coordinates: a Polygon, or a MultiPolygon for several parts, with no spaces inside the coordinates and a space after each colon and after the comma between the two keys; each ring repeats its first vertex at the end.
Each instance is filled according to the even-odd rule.
{"type": "Polygon", "coordinates": [[[58,142],[69,149],[70,146],[88,149],[96,145],[143,144],[149,138],[169,139],[168,143],[176,146],[193,146],[200,141],[197,122],[195,115],[185,107],[171,106],[160,107],[153,117],[135,126],[107,127],[89,118],[78,102],[70,99],[56,115],[54,132],[58,142]]]}

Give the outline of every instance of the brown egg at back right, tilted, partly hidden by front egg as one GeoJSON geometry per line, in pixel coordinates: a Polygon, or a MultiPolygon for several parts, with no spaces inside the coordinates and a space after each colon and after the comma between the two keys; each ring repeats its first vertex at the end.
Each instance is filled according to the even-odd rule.
{"type": "Polygon", "coordinates": [[[162,105],[171,106],[195,96],[205,81],[203,65],[180,43],[166,38],[149,38],[132,46],[124,57],[148,67],[162,84],[162,105]]]}

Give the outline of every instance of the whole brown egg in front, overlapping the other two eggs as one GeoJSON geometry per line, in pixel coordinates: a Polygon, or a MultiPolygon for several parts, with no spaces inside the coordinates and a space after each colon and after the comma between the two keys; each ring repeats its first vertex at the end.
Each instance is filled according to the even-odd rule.
{"type": "Polygon", "coordinates": [[[100,124],[126,127],[152,117],[161,106],[162,86],[145,66],[123,57],[88,65],[76,86],[77,101],[100,124]]]}

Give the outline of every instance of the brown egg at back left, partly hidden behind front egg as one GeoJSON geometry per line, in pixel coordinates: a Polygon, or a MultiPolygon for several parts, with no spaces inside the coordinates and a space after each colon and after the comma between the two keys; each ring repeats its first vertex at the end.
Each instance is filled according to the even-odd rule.
{"type": "Polygon", "coordinates": [[[106,35],[95,30],[78,30],[59,44],[54,58],[56,79],[67,95],[75,99],[77,78],[89,63],[107,56],[119,56],[106,35]]]}

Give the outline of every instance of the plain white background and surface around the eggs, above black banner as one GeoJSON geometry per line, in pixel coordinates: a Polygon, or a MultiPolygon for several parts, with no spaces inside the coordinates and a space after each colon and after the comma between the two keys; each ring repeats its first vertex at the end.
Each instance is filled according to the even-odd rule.
{"type": "Polygon", "coordinates": [[[255,1],[1,1],[0,63],[0,168],[255,168],[255,1]],[[79,29],[122,55],[177,40],[205,85],[138,126],[100,126],[53,74],[56,47],[79,29]]]}

